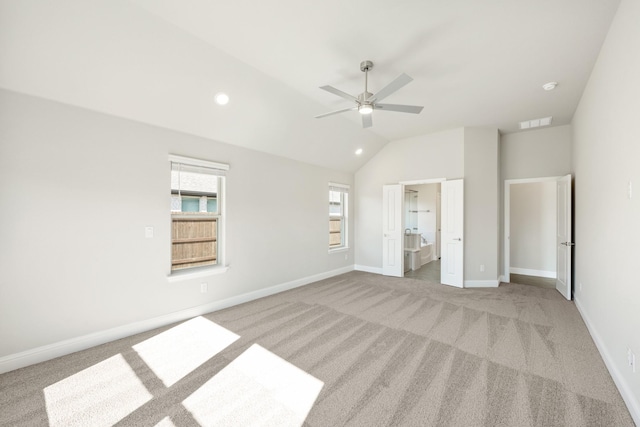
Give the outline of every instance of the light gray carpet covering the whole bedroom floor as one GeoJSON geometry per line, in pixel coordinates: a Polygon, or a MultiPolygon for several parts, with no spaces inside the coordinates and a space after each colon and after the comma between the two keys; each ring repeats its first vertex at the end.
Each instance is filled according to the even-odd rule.
{"type": "Polygon", "coordinates": [[[352,272],[203,318],[1,375],[0,425],[634,425],[553,289],[352,272]]]}

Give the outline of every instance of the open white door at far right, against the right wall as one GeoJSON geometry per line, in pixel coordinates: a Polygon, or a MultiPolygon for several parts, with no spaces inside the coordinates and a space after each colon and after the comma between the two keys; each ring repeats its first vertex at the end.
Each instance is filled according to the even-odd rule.
{"type": "Polygon", "coordinates": [[[571,299],[571,260],[574,243],[571,241],[571,175],[558,180],[558,231],[556,234],[557,279],[556,289],[571,299]]]}

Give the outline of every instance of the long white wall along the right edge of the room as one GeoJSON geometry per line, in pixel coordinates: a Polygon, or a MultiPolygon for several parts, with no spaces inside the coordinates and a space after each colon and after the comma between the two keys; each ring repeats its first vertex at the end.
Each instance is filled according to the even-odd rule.
{"type": "Polygon", "coordinates": [[[573,118],[575,299],[640,425],[640,2],[622,0],[573,118]],[[629,198],[629,182],[633,184],[629,198]]]}

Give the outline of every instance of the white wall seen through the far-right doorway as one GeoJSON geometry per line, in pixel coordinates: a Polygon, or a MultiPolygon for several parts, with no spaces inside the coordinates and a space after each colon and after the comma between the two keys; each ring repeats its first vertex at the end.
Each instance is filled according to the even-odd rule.
{"type": "Polygon", "coordinates": [[[511,273],[556,276],[556,186],[555,181],[511,185],[511,273]]]}

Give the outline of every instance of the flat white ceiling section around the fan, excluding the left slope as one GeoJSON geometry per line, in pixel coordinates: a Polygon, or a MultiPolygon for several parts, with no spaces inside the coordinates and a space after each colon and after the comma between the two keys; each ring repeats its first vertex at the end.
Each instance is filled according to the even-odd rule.
{"type": "MultiPolygon", "coordinates": [[[[389,141],[457,126],[518,130],[527,119],[567,124],[618,0],[134,0],[163,19],[318,101],[318,89],[373,92],[405,72],[414,81],[385,102],[424,105],[419,116],[376,112],[389,141]],[[541,86],[559,82],[556,91],[541,86]]],[[[357,112],[343,114],[358,122],[357,112]]],[[[335,118],[322,119],[327,126],[335,118]]]]}

